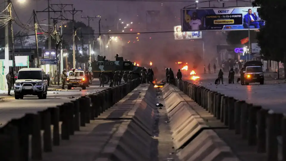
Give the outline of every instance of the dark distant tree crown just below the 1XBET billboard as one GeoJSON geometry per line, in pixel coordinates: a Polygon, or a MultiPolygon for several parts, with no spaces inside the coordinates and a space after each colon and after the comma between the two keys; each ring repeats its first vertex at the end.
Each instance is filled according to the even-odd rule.
{"type": "MultiPolygon", "coordinates": [[[[248,31],[238,30],[238,31],[229,31],[227,32],[226,42],[229,45],[241,44],[240,40],[248,37],[248,31]]],[[[256,42],[256,32],[253,30],[250,31],[250,42],[256,42]]]]}

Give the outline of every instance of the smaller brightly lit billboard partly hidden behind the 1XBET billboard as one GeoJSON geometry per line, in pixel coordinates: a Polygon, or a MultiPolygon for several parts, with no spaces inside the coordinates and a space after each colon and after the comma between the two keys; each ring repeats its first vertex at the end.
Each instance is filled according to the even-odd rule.
{"type": "Polygon", "coordinates": [[[203,38],[203,32],[201,31],[182,32],[182,26],[174,26],[174,37],[175,40],[200,39],[203,38]]]}

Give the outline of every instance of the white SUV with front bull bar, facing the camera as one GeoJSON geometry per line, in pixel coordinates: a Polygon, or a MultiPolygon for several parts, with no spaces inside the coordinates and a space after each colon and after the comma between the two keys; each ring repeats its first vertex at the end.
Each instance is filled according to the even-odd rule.
{"type": "Polygon", "coordinates": [[[16,100],[23,99],[24,95],[36,95],[39,99],[46,99],[47,77],[41,68],[23,68],[19,70],[13,88],[16,100]]]}

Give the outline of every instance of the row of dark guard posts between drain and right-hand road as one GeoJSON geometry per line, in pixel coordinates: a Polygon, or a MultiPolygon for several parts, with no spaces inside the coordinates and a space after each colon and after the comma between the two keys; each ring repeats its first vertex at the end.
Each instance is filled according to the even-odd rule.
{"type": "Polygon", "coordinates": [[[286,117],[263,109],[245,100],[237,100],[186,81],[175,86],[195,100],[204,110],[220,120],[229,130],[256,146],[257,153],[266,153],[267,161],[286,161],[286,117]]]}

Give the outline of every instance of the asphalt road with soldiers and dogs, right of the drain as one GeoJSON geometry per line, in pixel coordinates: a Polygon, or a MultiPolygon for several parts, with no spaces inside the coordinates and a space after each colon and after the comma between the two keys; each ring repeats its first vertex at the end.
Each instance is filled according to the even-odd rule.
{"type": "Polygon", "coordinates": [[[234,80],[234,84],[228,84],[228,75],[225,74],[225,84],[215,85],[217,74],[199,74],[198,76],[200,76],[199,81],[189,80],[189,82],[234,97],[235,99],[245,100],[247,103],[260,105],[264,109],[286,113],[286,82],[284,80],[265,80],[264,85],[250,83],[248,86],[242,86],[240,83],[236,83],[238,75],[234,80]]]}

